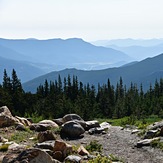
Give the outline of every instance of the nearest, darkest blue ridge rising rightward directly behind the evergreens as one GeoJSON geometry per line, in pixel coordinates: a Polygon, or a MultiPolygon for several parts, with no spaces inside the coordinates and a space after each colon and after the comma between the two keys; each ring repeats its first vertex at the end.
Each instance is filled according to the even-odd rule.
{"type": "Polygon", "coordinates": [[[104,70],[83,71],[77,69],[65,69],[62,71],[54,71],[46,75],[40,76],[27,83],[23,84],[26,91],[35,92],[40,84],[44,84],[45,79],[54,81],[58,79],[58,75],[63,79],[68,74],[78,77],[79,81],[84,84],[90,83],[95,86],[104,84],[109,78],[111,84],[116,86],[120,77],[122,77],[124,84],[129,87],[131,82],[136,83],[138,86],[142,83],[144,90],[149,89],[150,83],[154,84],[156,79],[163,77],[163,54],[153,58],[147,58],[140,62],[133,62],[131,64],[119,67],[109,68],[104,70]]]}

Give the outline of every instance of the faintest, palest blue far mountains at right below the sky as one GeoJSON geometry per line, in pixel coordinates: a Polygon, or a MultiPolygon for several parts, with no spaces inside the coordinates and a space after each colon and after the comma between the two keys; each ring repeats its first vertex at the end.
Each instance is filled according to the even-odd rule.
{"type": "Polygon", "coordinates": [[[124,52],[134,60],[143,60],[163,53],[163,39],[117,39],[93,42],[96,46],[110,47],[124,52]]]}

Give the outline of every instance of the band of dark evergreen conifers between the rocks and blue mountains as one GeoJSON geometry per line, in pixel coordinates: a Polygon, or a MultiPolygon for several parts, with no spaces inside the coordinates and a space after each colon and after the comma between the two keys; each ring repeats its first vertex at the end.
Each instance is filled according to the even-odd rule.
{"type": "MultiPolygon", "coordinates": [[[[130,124],[136,120],[150,120],[163,117],[163,79],[156,79],[155,85],[144,92],[143,85],[131,82],[129,88],[123,80],[116,87],[108,79],[104,85],[83,85],[76,76],[48,82],[32,94],[25,92],[16,71],[11,77],[4,70],[0,85],[0,106],[7,105],[13,115],[32,117],[35,121],[45,118],[59,118],[67,113],[76,113],[85,120],[95,118],[125,118],[130,124]]],[[[123,121],[121,121],[123,123],[123,121]]]]}

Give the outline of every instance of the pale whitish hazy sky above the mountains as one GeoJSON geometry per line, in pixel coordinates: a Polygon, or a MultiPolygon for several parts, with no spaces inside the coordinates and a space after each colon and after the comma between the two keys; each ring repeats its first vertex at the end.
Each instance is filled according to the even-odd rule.
{"type": "Polygon", "coordinates": [[[163,38],[163,0],[0,0],[1,38],[163,38]]]}

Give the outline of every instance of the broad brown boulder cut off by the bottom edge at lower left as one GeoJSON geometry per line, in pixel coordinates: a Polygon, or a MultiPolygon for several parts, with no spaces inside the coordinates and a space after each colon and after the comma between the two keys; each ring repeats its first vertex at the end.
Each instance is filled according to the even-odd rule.
{"type": "Polygon", "coordinates": [[[54,163],[53,158],[46,152],[40,149],[27,149],[16,155],[15,153],[8,153],[2,163],[9,162],[24,162],[24,163],[54,163]]]}

